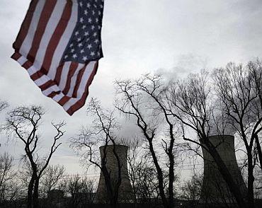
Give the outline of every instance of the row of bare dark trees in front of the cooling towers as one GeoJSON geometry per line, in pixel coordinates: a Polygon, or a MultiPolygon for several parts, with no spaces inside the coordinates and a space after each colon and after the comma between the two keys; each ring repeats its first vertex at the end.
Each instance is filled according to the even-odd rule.
{"type": "MultiPolygon", "coordinates": [[[[92,124],[82,127],[70,139],[70,146],[81,155],[81,160],[103,174],[111,207],[118,206],[122,166],[114,152],[119,174],[111,177],[106,154],[100,158],[98,148],[118,144],[130,146],[127,162],[135,202],[156,198],[163,207],[174,207],[179,192],[178,158],[185,157],[185,153],[201,155],[200,149],[205,149],[217,165],[233,202],[238,207],[255,207],[256,190],[261,188],[256,187],[255,180],[259,180],[257,173],[262,171],[262,67],[258,59],[246,65],[229,63],[212,71],[202,70],[186,79],[145,74],[139,79],[118,80],[115,91],[113,109],[103,108],[99,100],[91,98],[87,112],[93,118],[92,124]],[[123,139],[118,134],[121,117],[138,129],[138,139],[123,139]],[[241,192],[217,146],[210,141],[210,136],[224,134],[234,134],[241,144],[246,192],[241,192]]],[[[6,107],[3,103],[1,109],[6,107]]],[[[28,208],[39,207],[42,178],[64,137],[65,123],[52,123],[57,134],[50,153],[42,157],[38,154],[38,132],[44,114],[39,106],[18,107],[7,113],[1,128],[24,144],[30,172],[26,183],[28,208]]]]}

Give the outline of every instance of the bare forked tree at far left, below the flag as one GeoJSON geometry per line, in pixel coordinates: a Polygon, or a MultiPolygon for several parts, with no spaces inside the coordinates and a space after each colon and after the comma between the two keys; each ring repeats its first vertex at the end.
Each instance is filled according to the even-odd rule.
{"type": "Polygon", "coordinates": [[[47,156],[40,157],[38,154],[38,129],[42,116],[45,114],[44,110],[40,106],[30,107],[18,107],[8,112],[6,116],[6,125],[4,129],[10,136],[20,140],[24,144],[25,159],[30,163],[30,182],[28,183],[28,197],[27,207],[37,208],[38,207],[38,188],[42,173],[47,168],[52,154],[57,150],[59,144],[57,141],[63,136],[64,122],[59,124],[52,123],[55,127],[57,134],[55,135],[50,152],[47,156]]]}

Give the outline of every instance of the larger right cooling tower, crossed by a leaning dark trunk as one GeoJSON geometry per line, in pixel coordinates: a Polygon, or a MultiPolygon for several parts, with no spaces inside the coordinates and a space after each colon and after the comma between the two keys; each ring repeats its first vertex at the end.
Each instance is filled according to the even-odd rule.
{"type": "MultiPolygon", "coordinates": [[[[234,137],[221,135],[210,136],[209,139],[214,146],[217,146],[216,149],[222,161],[224,161],[235,182],[240,187],[242,194],[246,196],[247,188],[239,171],[234,151],[234,137]]],[[[203,149],[203,156],[204,178],[200,202],[207,204],[234,204],[234,197],[232,197],[229,187],[222,178],[212,156],[205,149],[203,149]]]]}

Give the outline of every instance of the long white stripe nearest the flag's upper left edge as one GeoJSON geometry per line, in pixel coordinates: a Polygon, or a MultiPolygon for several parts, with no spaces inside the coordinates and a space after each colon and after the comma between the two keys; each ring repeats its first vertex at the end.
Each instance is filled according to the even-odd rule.
{"type": "Polygon", "coordinates": [[[35,12],[33,13],[32,22],[30,23],[28,34],[21,45],[19,53],[22,54],[24,57],[27,57],[28,52],[32,46],[33,38],[35,36],[35,30],[38,28],[38,22],[42,13],[42,9],[45,6],[45,1],[38,1],[38,5],[35,8],[35,12]]]}

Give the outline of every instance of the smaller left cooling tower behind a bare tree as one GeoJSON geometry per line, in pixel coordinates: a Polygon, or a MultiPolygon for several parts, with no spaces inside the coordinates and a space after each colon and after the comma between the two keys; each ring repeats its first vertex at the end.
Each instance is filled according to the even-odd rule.
{"type": "MultiPolygon", "coordinates": [[[[103,150],[106,148],[106,168],[110,172],[111,182],[113,183],[113,187],[115,187],[116,182],[118,181],[118,162],[113,154],[113,145],[108,146],[101,146],[100,154],[101,159],[103,158],[103,150]]],[[[130,183],[130,179],[128,178],[127,172],[127,150],[128,147],[124,145],[116,145],[115,151],[120,158],[121,164],[121,178],[122,182],[119,187],[119,195],[118,195],[118,202],[133,202],[135,199],[135,195],[132,194],[132,187],[130,183]]],[[[103,173],[100,173],[98,189],[96,192],[96,203],[107,203],[108,202],[108,195],[106,192],[106,183],[103,177],[103,173]]]]}

